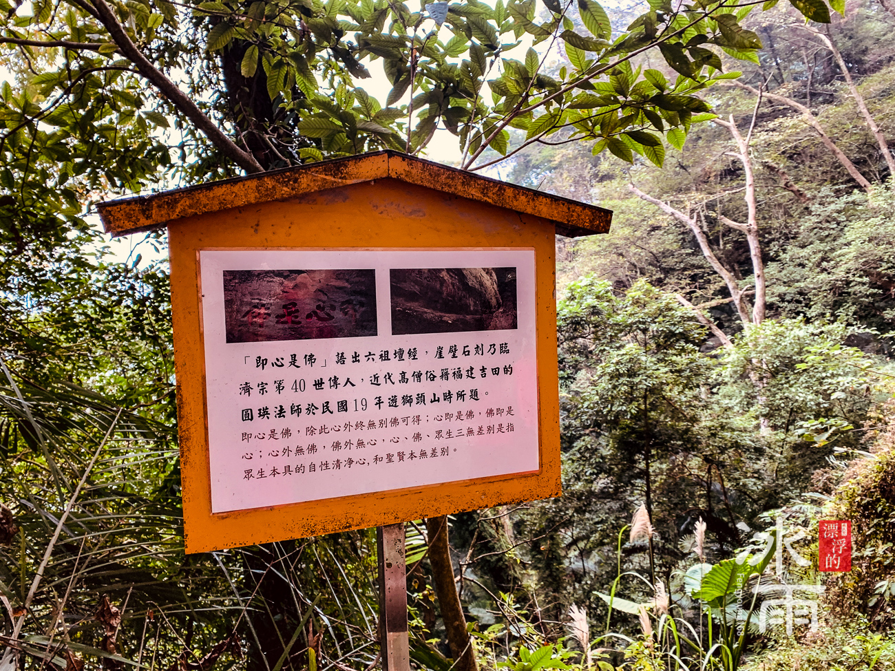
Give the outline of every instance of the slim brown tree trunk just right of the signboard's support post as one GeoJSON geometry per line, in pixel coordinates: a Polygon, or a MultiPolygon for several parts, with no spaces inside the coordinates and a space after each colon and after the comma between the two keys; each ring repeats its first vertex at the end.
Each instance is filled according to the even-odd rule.
{"type": "Polygon", "coordinates": [[[466,618],[456,593],[454,565],[447,545],[447,516],[430,517],[426,520],[429,536],[429,563],[432,580],[439,599],[441,619],[445,624],[447,644],[456,660],[456,671],[478,671],[473,644],[466,632],[466,618]]]}

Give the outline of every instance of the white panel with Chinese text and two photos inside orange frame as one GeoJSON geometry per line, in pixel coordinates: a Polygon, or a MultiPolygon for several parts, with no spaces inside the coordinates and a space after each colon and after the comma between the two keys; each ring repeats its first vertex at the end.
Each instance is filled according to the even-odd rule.
{"type": "Polygon", "coordinates": [[[214,513],[538,471],[534,252],[200,251],[214,513]]]}

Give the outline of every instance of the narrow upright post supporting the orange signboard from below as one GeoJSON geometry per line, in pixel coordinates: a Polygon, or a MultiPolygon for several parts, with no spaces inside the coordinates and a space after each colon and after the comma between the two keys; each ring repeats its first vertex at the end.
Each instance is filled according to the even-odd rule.
{"type": "Polygon", "coordinates": [[[379,644],[382,671],[410,671],[404,524],[376,529],[379,554],[379,644]]]}

